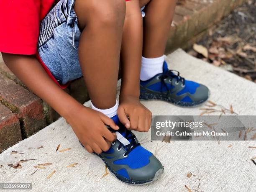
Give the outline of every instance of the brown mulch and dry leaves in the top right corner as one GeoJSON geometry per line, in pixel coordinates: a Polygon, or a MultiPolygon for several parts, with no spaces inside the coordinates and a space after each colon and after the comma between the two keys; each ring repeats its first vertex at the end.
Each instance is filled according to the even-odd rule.
{"type": "Polygon", "coordinates": [[[238,7],[188,53],[256,82],[255,7],[256,0],[238,7]]]}

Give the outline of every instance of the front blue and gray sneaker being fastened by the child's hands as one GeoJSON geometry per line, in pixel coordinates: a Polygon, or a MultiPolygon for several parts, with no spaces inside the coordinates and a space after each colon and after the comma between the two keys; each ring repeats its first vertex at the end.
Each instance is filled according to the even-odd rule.
{"type": "Polygon", "coordinates": [[[127,184],[141,185],[154,182],[164,172],[164,167],[156,157],[138,142],[136,136],[128,131],[122,123],[112,118],[119,126],[117,140],[110,149],[97,154],[105,162],[110,172],[120,181],[127,184]]]}

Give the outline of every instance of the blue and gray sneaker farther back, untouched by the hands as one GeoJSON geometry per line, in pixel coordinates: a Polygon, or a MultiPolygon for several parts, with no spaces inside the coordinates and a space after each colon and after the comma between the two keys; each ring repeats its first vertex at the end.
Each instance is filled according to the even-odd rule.
{"type": "Polygon", "coordinates": [[[179,72],[169,70],[166,61],[163,73],[140,82],[141,100],[163,100],[183,107],[192,107],[205,102],[210,90],[202,84],[185,80],[179,72]]]}

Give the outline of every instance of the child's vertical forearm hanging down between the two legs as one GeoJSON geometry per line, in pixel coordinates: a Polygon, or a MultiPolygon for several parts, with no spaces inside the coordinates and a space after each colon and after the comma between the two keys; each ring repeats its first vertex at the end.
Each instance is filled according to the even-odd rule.
{"type": "Polygon", "coordinates": [[[122,87],[120,97],[132,95],[139,97],[143,41],[143,23],[138,1],[129,1],[123,28],[121,49],[122,87]]]}

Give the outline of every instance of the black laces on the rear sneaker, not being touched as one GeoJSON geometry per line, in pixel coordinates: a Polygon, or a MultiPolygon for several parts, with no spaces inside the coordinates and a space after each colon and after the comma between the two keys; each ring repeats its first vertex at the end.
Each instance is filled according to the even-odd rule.
{"type": "Polygon", "coordinates": [[[169,82],[171,83],[171,88],[173,87],[173,79],[176,79],[175,84],[178,84],[180,81],[182,82],[182,87],[185,87],[185,79],[179,75],[179,72],[176,70],[166,70],[163,74],[161,74],[158,77],[161,80],[161,92],[163,93],[163,86],[166,88],[167,93],[166,95],[169,94],[170,88],[166,84],[165,80],[169,78],[169,82]]]}

